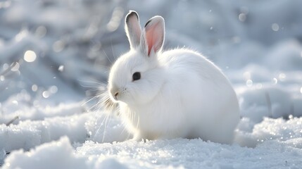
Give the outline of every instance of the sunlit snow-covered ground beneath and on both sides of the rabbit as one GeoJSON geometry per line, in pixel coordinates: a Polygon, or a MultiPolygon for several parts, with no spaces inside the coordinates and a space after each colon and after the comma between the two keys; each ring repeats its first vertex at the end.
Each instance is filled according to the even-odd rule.
{"type": "MultiPolygon", "coordinates": [[[[66,107],[77,105],[61,108],[62,115],[66,107]]],[[[92,111],[1,125],[0,149],[12,151],[3,168],[299,168],[301,125],[302,118],[292,115],[260,123],[242,118],[233,145],[201,139],[136,142],[124,141],[129,135],[118,118],[106,120],[92,111]]]]}

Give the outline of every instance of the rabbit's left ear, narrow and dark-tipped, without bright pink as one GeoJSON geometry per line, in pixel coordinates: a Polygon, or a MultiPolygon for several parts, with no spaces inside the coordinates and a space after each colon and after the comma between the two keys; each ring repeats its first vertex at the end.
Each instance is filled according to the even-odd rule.
{"type": "Polygon", "coordinates": [[[135,11],[130,11],[125,18],[125,31],[130,43],[130,48],[139,46],[141,37],[141,26],[139,25],[139,15],[135,11]]]}

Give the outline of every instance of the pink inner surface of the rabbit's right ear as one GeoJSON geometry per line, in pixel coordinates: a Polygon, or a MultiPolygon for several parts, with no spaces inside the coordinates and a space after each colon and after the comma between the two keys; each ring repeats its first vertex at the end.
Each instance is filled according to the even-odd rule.
{"type": "Polygon", "coordinates": [[[146,30],[146,42],[148,44],[148,56],[150,56],[151,49],[156,52],[161,49],[163,44],[163,30],[160,23],[154,23],[146,30]]]}

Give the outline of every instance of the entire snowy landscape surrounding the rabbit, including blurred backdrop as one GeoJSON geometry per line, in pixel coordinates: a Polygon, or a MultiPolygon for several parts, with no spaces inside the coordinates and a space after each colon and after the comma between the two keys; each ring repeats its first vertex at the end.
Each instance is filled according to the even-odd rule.
{"type": "Polygon", "coordinates": [[[1,168],[302,168],[302,1],[0,1],[1,168]],[[123,19],[163,15],[165,49],[201,51],[241,107],[232,145],[134,142],[99,89],[123,19]],[[85,104],[87,100],[91,101],[85,104]]]}

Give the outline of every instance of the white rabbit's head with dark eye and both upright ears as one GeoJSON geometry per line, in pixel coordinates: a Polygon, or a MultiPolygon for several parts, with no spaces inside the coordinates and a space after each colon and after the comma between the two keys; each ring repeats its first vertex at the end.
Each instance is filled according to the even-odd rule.
{"type": "Polygon", "coordinates": [[[154,16],[141,30],[139,15],[130,11],[125,18],[125,32],[130,51],[113,64],[108,92],[114,102],[145,104],[158,94],[164,80],[157,56],[164,42],[165,22],[161,16],[154,16]]]}

